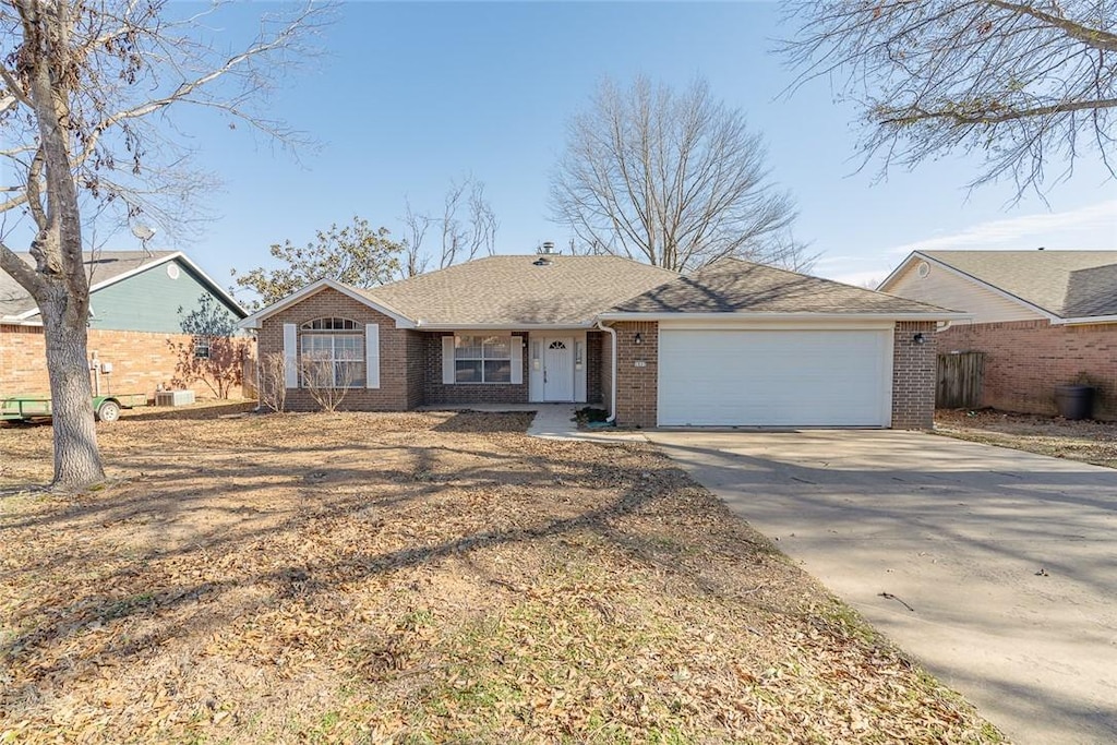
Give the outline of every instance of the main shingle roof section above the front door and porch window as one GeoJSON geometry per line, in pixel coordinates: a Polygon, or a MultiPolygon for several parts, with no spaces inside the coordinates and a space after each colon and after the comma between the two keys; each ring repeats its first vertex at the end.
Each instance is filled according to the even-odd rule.
{"type": "Polygon", "coordinates": [[[359,290],[421,325],[572,324],[678,277],[615,256],[491,256],[359,290]]]}

